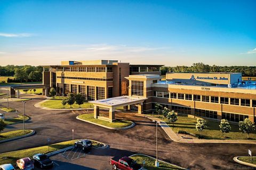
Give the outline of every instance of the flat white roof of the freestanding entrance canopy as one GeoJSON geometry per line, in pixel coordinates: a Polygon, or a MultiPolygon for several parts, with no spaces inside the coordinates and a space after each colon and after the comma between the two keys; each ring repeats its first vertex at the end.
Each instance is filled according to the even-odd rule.
{"type": "Polygon", "coordinates": [[[145,101],[146,99],[147,98],[143,98],[143,97],[124,95],[124,96],[118,96],[115,98],[89,101],[89,103],[93,103],[100,106],[107,106],[107,107],[118,107],[118,106],[127,106],[130,104],[140,103],[145,101]]]}

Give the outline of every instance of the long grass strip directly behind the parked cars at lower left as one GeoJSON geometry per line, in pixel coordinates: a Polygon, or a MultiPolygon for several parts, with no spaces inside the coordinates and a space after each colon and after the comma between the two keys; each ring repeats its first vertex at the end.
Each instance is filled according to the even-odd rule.
{"type": "Polygon", "coordinates": [[[16,160],[20,158],[25,158],[25,157],[32,158],[33,155],[35,155],[36,153],[49,153],[49,152],[57,151],[66,147],[70,147],[71,145],[74,145],[75,141],[77,140],[51,144],[49,151],[48,151],[48,146],[45,145],[43,147],[36,147],[36,148],[0,153],[0,165],[15,164],[16,160]]]}

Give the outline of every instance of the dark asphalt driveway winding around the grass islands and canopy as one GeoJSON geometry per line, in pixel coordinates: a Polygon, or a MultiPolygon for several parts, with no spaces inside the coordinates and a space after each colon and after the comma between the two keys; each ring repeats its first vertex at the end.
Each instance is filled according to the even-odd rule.
{"type": "MultiPolygon", "coordinates": [[[[145,117],[118,113],[116,114],[117,117],[134,120],[136,125],[126,130],[111,130],[76,119],[77,115],[84,114],[87,111],[50,111],[35,108],[34,104],[39,101],[42,100],[33,99],[26,102],[26,115],[31,117],[31,120],[26,123],[26,128],[34,129],[36,135],[0,144],[1,153],[46,145],[47,138],[50,138],[52,143],[71,140],[71,129],[74,128],[76,139],[92,139],[110,145],[111,150],[109,152],[100,153],[101,157],[97,157],[103,162],[97,164],[96,168],[91,168],[108,167],[107,160],[116,155],[131,155],[137,152],[151,156],[156,155],[155,123],[145,117]],[[104,161],[106,161],[106,165],[104,161]]],[[[21,102],[10,102],[9,106],[22,110],[21,102]]],[[[22,124],[15,124],[6,127],[4,132],[21,128],[22,124]]],[[[234,156],[246,155],[248,149],[251,149],[254,153],[256,152],[255,145],[250,144],[177,143],[171,141],[162,128],[158,127],[159,159],[189,169],[250,169],[250,167],[239,165],[233,161],[234,156]]],[[[94,159],[92,156],[91,163],[94,163],[94,159]]],[[[82,162],[74,160],[72,164],[87,166],[86,163],[82,164],[82,162]]]]}

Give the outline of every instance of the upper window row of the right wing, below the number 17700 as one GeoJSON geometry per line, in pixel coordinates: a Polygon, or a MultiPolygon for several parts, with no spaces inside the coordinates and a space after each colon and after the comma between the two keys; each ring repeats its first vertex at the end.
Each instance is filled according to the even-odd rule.
{"type": "MultiPolygon", "coordinates": [[[[153,92],[153,96],[155,96],[155,97],[183,99],[183,100],[192,100],[193,99],[192,95],[194,95],[194,101],[210,102],[210,99],[211,99],[211,103],[229,104],[229,98],[225,98],[225,97],[219,98],[218,96],[171,93],[171,92],[169,94],[169,92],[159,92],[159,91],[153,92]]],[[[239,99],[230,98],[230,104],[239,106],[239,99]]],[[[250,99],[241,99],[241,106],[249,106],[250,107],[250,99]]],[[[256,100],[252,100],[252,107],[256,107],[256,100]]]]}

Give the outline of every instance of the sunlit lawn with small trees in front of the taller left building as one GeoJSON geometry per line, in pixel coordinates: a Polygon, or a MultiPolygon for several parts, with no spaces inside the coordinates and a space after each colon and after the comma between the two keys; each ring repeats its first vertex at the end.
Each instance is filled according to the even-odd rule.
{"type": "MultiPolygon", "coordinates": [[[[55,97],[57,98],[57,97],[55,97]]],[[[62,100],[57,99],[51,99],[41,104],[43,107],[51,108],[51,109],[63,109],[63,105],[61,104],[62,100]]],[[[74,103],[71,106],[71,109],[77,109],[79,108],[79,105],[74,103]]],[[[81,104],[81,108],[93,108],[92,103],[85,102],[84,104],[81,104]]],[[[64,109],[70,109],[70,105],[66,104],[64,109]]]]}

